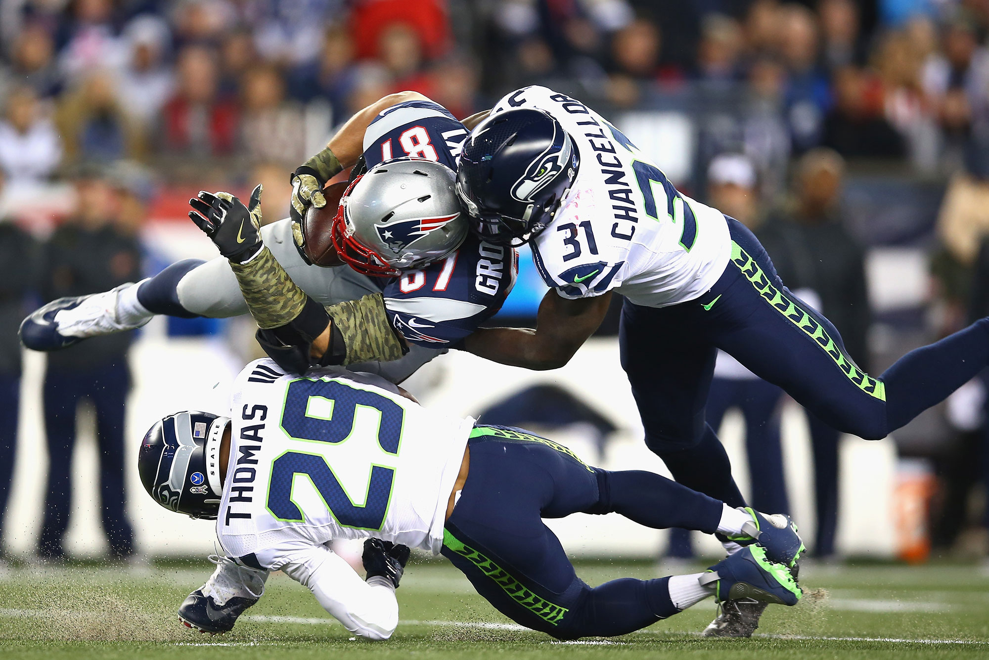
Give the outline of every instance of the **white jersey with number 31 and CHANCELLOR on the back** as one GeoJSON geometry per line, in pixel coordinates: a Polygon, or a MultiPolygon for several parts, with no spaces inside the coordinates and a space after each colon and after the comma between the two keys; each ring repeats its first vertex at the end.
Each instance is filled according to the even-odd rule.
{"type": "Polygon", "coordinates": [[[494,113],[537,108],[570,133],[577,179],[532,242],[546,284],[567,298],[614,289],[664,307],[692,300],[724,273],[731,237],[724,214],[678,193],[624,134],[579,101],[545,87],[508,94],[494,113]]]}

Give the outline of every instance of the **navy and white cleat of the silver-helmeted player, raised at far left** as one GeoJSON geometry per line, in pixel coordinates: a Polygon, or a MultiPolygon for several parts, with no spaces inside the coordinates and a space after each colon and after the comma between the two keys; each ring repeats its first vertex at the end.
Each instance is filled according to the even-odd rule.
{"type": "Polygon", "coordinates": [[[117,294],[131,283],[89,295],[58,298],[36,309],[21,322],[21,343],[33,351],[58,351],[88,337],[133,330],[137,325],[117,319],[117,294]],[[59,312],[66,312],[61,314],[59,312]]]}

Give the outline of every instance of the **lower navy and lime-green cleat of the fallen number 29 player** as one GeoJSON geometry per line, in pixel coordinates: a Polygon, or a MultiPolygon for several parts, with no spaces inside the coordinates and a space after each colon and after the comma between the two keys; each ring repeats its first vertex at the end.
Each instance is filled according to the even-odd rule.
{"type": "Polygon", "coordinates": [[[751,600],[792,606],[802,596],[790,569],[770,561],[760,545],[744,547],[708,570],[700,584],[714,585],[718,603],[751,600]]]}

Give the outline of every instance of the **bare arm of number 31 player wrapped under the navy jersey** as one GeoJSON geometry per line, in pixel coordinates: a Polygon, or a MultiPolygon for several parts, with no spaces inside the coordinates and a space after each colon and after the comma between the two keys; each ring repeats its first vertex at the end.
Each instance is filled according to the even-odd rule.
{"type": "Polygon", "coordinates": [[[502,365],[559,369],[601,324],[610,301],[611,291],[570,299],[550,289],[539,303],[535,329],[481,328],[464,340],[464,348],[502,365]]]}

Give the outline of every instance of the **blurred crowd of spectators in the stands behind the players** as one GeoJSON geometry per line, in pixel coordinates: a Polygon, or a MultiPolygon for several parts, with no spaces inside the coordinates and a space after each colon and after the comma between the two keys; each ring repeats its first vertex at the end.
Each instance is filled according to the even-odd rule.
{"type": "Polygon", "coordinates": [[[826,145],[950,173],[989,133],[987,28],[984,0],[2,0],[0,168],[294,164],[389,92],[463,117],[546,83],[729,103],[762,167],[826,145]]]}

